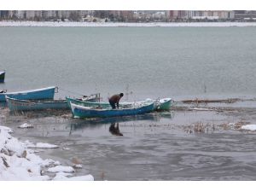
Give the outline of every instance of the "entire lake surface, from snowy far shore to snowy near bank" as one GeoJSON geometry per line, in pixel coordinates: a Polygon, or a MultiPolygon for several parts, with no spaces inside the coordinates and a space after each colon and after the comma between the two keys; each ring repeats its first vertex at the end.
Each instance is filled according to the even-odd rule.
{"type": "MultiPolygon", "coordinates": [[[[56,98],[101,92],[105,101],[120,91],[132,91],[130,101],[254,98],[255,42],[256,27],[0,27],[0,89],[57,85],[56,98]]],[[[77,158],[77,174],[96,180],[256,180],[255,132],[224,126],[256,124],[255,102],[222,106],[233,109],[99,120],[1,108],[0,125],[60,145],[39,155],[65,166],[77,158]],[[17,128],[25,122],[35,127],[17,128]]]]}

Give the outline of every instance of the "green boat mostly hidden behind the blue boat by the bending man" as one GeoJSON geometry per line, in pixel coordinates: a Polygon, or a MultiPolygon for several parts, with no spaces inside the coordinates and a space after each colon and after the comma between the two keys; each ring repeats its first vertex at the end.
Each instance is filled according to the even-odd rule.
{"type": "MultiPolygon", "coordinates": [[[[70,102],[76,105],[81,105],[84,107],[94,107],[94,108],[110,108],[109,102],[85,102],[85,101],[80,101],[77,99],[72,99],[69,97],[66,97],[67,103],[70,106],[70,102]]],[[[140,102],[119,102],[119,107],[120,108],[131,108],[140,104],[147,104],[151,102],[156,102],[154,106],[154,110],[170,110],[172,107],[172,99],[171,98],[163,98],[159,100],[152,100],[152,99],[146,99],[144,101],[140,102]]]]}

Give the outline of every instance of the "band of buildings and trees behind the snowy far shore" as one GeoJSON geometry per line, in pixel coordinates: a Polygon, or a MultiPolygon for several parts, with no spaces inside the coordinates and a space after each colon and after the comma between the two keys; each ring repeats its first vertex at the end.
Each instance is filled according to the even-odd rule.
{"type": "Polygon", "coordinates": [[[255,20],[253,10],[0,10],[1,20],[187,21],[255,20]]]}

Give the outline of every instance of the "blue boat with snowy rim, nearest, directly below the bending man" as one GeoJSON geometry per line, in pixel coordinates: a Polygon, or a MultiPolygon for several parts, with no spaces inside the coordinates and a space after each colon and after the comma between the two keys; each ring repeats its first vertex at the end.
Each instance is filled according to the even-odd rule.
{"type": "Polygon", "coordinates": [[[93,108],[70,103],[73,117],[77,118],[108,118],[115,116],[137,115],[149,113],[154,110],[154,102],[144,104],[135,108],[93,108]]]}

